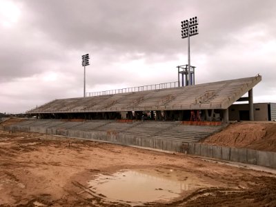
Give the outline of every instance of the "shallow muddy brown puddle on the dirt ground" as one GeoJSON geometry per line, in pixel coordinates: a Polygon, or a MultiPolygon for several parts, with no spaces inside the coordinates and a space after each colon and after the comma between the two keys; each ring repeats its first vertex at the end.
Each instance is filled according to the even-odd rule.
{"type": "Polygon", "coordinates": [[[174,170],[127,170],[112,175],[98,175],[88,181],[91,190],[115,201],[170,201],[186,190],[209,186],[186,172],[174,170]]]}

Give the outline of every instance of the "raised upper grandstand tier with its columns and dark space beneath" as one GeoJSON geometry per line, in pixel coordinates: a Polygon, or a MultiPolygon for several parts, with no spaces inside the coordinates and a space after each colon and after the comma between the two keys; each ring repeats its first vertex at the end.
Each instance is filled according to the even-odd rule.
{"type": "MultiPolygon", "coordinates": [[[[136,119],[224,121],[235,101],[253,104],[253,87],[262,77],[194,86],[56,99],[26,113],[41,119],[136,119]],[[248,97],[241,97],[248,92],[248,97]]],[[[253,113],[253,110],[250,112],[253,113]]]]}

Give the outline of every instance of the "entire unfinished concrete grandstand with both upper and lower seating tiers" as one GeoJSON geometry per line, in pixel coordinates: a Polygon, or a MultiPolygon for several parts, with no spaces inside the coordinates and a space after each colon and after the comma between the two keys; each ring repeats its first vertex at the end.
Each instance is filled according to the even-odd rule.
{"type": "Polygon", "coordinates": [[[228,123],[228,108],[248,101],[253,120],[253,87],[262,77],[193,86],[56,99],[26,113],[6,130],[41,132],[113,144],[184,152],[228,123]],[[248,97],[244,97],[248,92],[248,97]]]}

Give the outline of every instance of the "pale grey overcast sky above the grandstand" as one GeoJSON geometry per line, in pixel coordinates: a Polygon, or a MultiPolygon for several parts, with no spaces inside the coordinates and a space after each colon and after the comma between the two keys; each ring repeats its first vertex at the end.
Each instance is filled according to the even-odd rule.
{"type": "Polygon", "coordinates": [[[0,0],[0,112],[86,92],[177,81],[191,37],[196,83],[262,75],[254,102],[276,102],[276,1],[0,0]]]}

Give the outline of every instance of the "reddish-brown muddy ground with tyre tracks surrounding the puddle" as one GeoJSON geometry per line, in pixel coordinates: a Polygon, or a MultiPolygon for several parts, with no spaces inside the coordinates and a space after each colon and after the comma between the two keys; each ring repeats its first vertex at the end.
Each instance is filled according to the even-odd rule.
{"type": "Polygon", "coordinates": [[[182,179],[188,174],[204,182],[166,204],[146,206],[276,206],[273,173],[184,154],[0,130],[0,206],[129,206],[88,189],[99,173],[124,169],[174,170],[182,179]]]}

